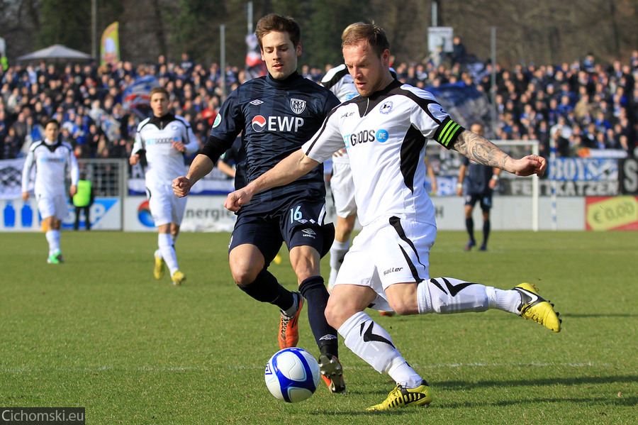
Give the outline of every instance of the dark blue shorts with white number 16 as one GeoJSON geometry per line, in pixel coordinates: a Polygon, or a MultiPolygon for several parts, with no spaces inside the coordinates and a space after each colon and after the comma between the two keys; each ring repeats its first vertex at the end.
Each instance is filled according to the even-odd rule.
{"type": "Polygon", "coordinates": [[[328,253],[335,238],[335,227],[325,224],[325,202],[295,202],[287,209],[272,214],[239,214],[228,252],[238,245],[250,243],[264,255],[269,265],[279,253],[281,243],[288,250],[308,245],[323,256],[328,253]]]}

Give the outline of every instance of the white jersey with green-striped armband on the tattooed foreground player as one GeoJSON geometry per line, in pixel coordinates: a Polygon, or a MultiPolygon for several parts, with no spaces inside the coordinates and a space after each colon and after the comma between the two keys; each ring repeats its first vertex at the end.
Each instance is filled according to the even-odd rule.
{"type": "Polygon", "coordinates": [[[302,149],[323,162],[346,148],[362,226],[381,216],[436,226],[424,187],[425,145],[432,138],[452,148],[463,130],[430,92],[394,80],[372,96],[357,96],[332,109],[302,149]]]}

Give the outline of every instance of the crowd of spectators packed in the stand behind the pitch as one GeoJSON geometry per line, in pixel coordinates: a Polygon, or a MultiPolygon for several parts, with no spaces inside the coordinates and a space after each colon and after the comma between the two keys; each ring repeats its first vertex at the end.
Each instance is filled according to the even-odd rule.
{"type": "MultiPolygon", "coordinates": [[[[637,155],[638,50],[628,60],[599,63],[588,54],[561,65],[496,65],[496,91],[491,92],[491,64],[469,63],[460,40],[455,53],[435,53],[421,62],[393,63],[398,79],[416,87],[475,84],[489,98],[494,94],[498,123],[494,139],[540,141],[542,155],[556,143],[561,156],[583,155],[588,149],[624,150],[637,155]]],[[[320,67],[303,67],[319,82],[320,67]]],[[[0,159],[26,155],[28,146],[44,136],[42,123],[55,117],[62,138],[78,158],[127,158],[137,124],[150,109],[125,109],[123,94],[135,79],[155,75],[171,94],[175,114],[193,126],[206,143],[224,91],[245,81],[246,73],[228,66],[222,72],[194,63],[188,55],[169,62],[133,66],[51,63],[0,67],[0,159]],[[222,74],[225,86],[222,82],[222,74]],[[225,88],[224,88],[225,87],[225,88]]]]}

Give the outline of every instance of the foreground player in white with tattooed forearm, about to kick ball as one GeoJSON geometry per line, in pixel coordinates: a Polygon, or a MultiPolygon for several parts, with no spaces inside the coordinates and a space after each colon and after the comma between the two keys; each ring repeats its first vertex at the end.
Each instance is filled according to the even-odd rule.
{"type": "Polygon", "coordinates": [[[342,48],[361,96],[332,109],[300,150],[229,194],[225,206],[237,211],[253,194],[298,178],[345,142],[363,228],[345,257],[325,316],[350,350],[397,383],[384,402],[369,410],[424,406],[432,402],[429,385],[366,314],[367,307],[391,308],[401,315],[500,309],[561,331],[553,305],[528,283],[503,290],[452,277],[430,278],[437,228],[423,186],[427,140],[515,175],[542,175],[547,162],[537,155],[510,158],[455,123],[432,94],[393,79],[389,43],[378,26],[354,26],[342,48]]]}

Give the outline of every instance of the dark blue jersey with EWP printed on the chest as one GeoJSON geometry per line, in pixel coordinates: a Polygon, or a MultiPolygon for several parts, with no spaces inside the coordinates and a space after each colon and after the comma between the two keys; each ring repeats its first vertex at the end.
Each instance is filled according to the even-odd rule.
{"type": "MultiPolygon", "coordinates": [[[[246,153],[245,173],[240,180],[252,182],[274,167],[318,131],[339,99],[328,89],[301,77],[296,72],[277,81],[270,75],[245,82],[235,89],[221,107],[213,123],[210,140],[219,140],[230,148],[242,133],[246,153]]],[[[323,199],[323,165],[307,175],[254,195],[240,211],[268,212],[287,206],[289,199],[323,199]]]]}

